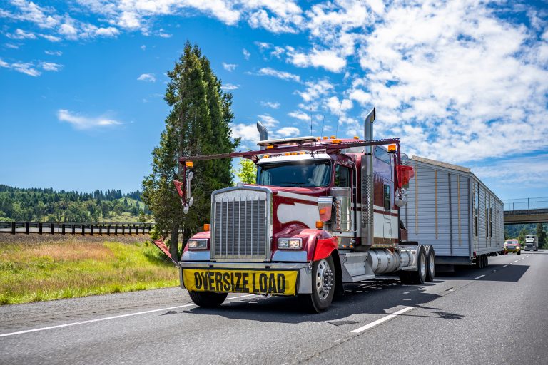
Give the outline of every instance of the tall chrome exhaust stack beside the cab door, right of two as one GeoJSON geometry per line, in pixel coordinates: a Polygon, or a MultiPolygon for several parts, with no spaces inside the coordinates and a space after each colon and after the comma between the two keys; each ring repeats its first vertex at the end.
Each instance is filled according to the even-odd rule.
{"type": "MultiPolygon", "coordinates": [[[[364,139],[373,139],[373,122],[375,121],[375,108],[365,117],[364,122],[364,139]]],[[[365,154],[361,158],[362,168],[362,222],[360,227],[360,236],[362,238],[362,246],[369,249],[373,245],[373,146],[365,146],[365,154]]]]}

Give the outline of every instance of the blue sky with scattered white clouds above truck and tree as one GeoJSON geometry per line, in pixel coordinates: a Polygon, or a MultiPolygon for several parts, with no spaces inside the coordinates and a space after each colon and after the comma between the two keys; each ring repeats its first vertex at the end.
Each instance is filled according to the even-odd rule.
{"type": "Polygon", "coordinates": [[[502,199],[548,196],[546,1],[0,2],[0,183],[138,190],[188,40],[271,136],[400,137],[502,199]]]}

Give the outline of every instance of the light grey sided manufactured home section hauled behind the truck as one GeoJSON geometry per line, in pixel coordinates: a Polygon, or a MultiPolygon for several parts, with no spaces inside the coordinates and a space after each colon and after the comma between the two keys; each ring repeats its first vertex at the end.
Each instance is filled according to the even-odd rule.
{"type": "Polygon", "coordinates": [[[408,240],[432,245],[444,257],[502,250],[502,201],[475,175],[422,161],[410,160],[410,165],[415,178],[407,189],[407,205],[400,208],[408,240]]]}

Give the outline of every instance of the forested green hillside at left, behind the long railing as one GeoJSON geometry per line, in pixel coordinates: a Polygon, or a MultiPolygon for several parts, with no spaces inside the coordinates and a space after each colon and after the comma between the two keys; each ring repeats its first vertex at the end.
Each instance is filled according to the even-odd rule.
{"type": "Polygon", "coordinates": [[[144,220],[141,192],[21,189],[0,184],[0,220],[86,222],[144,220]]]}

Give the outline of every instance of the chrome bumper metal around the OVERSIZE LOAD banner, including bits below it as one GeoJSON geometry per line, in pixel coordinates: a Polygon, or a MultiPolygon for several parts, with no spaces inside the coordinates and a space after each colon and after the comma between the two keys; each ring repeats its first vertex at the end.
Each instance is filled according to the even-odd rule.
{"type": "MultiPolygon", "coordinates": [[[[188,272],[296,272],[295,294],[312,293],[312,264],[310,262],[196,262],[181,261],[179,267],[179,282],[181,288],[185,287],[184,271],[188,272]]],[[[217,291],[217,290],[211,290],[217,291]]],[[[225,290],[222,290],[225,292],[225,290]]],[[[227,290],[226,292],[243,292],[245,290],[227,290]]],[[[262,294],[262,293],[261,293],[262,294]]],[[[284,295],[284,294],[280,294],[284,295]]]]}

